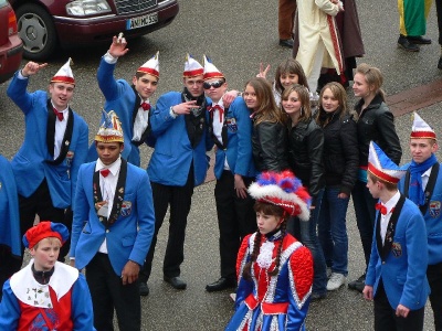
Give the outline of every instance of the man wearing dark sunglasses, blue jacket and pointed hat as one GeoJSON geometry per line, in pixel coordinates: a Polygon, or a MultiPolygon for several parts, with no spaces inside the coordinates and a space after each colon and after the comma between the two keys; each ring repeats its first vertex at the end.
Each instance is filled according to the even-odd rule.
{"type": "Polygon", "coordinates": [[[209,128],[217,145],[214,175],[221,277],[206,286],[208,292],[236,287],[236,255],[243,237],[256,229],[254,201],[248,193],[255,169],[252,160],[252,121],[242,97],[228,106],[224,75],[204,56],[203,88],[212,104],[209,128]]]}

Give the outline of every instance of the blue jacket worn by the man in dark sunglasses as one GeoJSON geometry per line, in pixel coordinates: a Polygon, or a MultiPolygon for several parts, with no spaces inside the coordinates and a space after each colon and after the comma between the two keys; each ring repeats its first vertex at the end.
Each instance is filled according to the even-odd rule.
{"type": "MultiPolygon", "coordinates": [[[[219,119],[214,118],[214,120],[219,119]]],[[[224,125],[228,132],[228,145],[225,149],[217,149],[214,175],[217,179],[221,178],[224,160],[228,158],[233,174],[255,177],[256,170],[252,156],[252,120],[243,98],[236,97],[230,105],[224,125]]]]}

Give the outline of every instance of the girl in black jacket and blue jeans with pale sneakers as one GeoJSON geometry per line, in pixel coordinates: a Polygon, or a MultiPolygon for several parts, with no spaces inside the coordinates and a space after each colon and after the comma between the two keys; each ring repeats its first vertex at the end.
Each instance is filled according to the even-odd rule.
{"type": "Polygon", "coordinates": [[[318,236],[332,269],[327,290],[336,290],[348,275],[348,235],[346,215],[358,172],[358,138],[347,93],[339,83],[320,90],[316,122],[324,131],[325,191],[318,220],[318,236]]]}

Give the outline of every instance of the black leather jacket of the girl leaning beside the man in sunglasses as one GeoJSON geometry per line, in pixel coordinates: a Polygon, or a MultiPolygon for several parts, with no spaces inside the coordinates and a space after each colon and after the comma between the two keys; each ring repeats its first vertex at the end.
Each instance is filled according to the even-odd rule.
{"type": "Polygon", "coordinates": [[[252,148],[257,171],[288,169],[287,130],[284,125],[270,121],[253,125],[252,148]]]}

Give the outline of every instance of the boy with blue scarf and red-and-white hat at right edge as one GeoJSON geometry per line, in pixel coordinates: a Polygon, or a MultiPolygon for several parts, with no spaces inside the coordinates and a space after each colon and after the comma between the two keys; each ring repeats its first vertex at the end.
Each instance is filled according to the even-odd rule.
{"type": "Polygon", "coordinates": [[[399,191],[414,202],[425,220],[430,284],[430,302],[435,330],[442,330],[442,171],[435,157],[436,136],[433,129],[414,113],[410,135],[412,161],[406,164],[407,174],[399,182],[399,191]]]}

